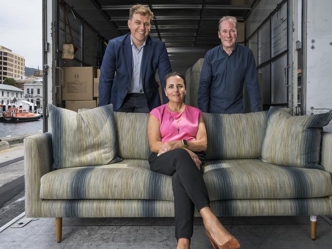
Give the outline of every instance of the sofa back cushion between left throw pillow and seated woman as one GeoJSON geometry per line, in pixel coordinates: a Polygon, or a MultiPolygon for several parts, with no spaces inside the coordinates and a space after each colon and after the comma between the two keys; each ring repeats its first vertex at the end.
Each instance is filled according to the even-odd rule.
{"type": "Polygon", "coordinates": [[[118,156],[123,159],[148,159],[149,114],[114,112],[118,138],[118,156]]]}

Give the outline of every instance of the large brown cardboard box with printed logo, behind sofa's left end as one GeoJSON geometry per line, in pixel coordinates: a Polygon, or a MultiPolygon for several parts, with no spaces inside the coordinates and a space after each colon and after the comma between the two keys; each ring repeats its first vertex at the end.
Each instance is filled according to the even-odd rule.
{"type": "Polygon", "coordinates": [[[94,67],[63,67],[62,100],[87,101],[93,99],[94,67]]]}

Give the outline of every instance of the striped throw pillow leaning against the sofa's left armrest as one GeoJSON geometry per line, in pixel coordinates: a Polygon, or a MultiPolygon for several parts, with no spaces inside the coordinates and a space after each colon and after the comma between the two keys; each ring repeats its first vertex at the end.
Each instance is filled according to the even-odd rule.
{"type": "Polygon", "coordinates": [[[120,161],[112,105],[77,113],[50,104],[49,110],[54,169],[120,161]]]}

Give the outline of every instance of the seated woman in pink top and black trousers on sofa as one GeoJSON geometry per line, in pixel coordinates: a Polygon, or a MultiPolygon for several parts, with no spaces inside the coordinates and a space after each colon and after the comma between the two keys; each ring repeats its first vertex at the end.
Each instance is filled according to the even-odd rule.
{"type": "Polygon", "coordinates": [[[172,176],[177,249],[189,248],[193,235],[194,207],[203,218],[212,246],[240,248],[211,212],[209,197],[201,173],[207,147],[202,112],[183,103],[183,74],[171,72],[165,77],[165,93],[169,102],[150,112],[148,135],[151,148],[151,170],[172,176]]]}

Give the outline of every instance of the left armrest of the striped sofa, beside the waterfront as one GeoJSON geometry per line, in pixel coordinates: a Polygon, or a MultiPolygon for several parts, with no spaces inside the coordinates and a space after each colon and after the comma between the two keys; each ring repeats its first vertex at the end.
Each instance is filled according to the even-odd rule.
{"type": "Polygon", "coordinates": [[[40,178],[52,169],[52,133],[36,134],[24,139],[26,216],[40,217],[40,178]]]}

